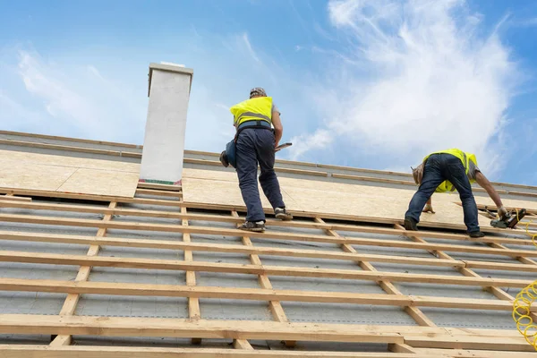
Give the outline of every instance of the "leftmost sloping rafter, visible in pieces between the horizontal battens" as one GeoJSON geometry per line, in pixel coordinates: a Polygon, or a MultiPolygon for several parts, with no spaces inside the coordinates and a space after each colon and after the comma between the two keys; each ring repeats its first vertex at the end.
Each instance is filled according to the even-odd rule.
{"type": "MultiPolygon", "coordinates": [[[[112,201],[109,205],[109,209],[115,209],[115,206],[117,203],[115,201],[112,201]]],[[[103,221],[109,221],[112,219],[111,215],[105,215],[103,217],[103,221]]],[[[103,237],[107,234],[106,228],[99,228],[96,234],[96,237],[103,237]]],[[[87,255],[88,256],[97,256],[98,251],[100,250],[99,245],[92,244],[90,245],[90,249],[88,250],[87,255]]],[[[75,277],[76,282],[84,282],[88,281],[90,278],[90,266],[81,266],[79,268],[78,274],[75,277]]],[[[74,311],[76,310],[76,306],[79,303],[81,295],[80,294],[67,294],[67,297],[65,298],[64,305],[62,307],[62,310],[60,311],[61,315],[70,315],[72,316],[74,314],[74,311]]],[[[57,336],[55,339],[50,343],[50,345],[71,345],[72,337],[71,336],[57,336]]]]}

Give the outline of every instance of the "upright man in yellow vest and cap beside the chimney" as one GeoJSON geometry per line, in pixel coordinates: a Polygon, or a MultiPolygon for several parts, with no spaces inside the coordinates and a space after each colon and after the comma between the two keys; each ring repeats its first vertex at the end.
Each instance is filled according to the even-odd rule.
{"type": "Polygon", "coordinates": [[[282,138],[284,127],[277,107],[265,90],[255,88],[247,99],[230,108],[234,115],[236,136],[236,170],[239,187],[246,204],[246,222],[239,226],[242,230],[265,231],[265,213],[261,206],[258,190],[258,163],[261,169],[260,184],[276,217],[291,220],[286,211],[279,183],[274,172],[275,148],[282,138]],[[271,125],[274,126],[274,130],[271,125]]]}

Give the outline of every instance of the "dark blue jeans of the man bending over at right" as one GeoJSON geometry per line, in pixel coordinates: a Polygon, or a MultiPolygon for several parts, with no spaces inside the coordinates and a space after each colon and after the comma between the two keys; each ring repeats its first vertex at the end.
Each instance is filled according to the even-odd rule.
{"type": "Polygon", "coordinates": [[[456,191],[459,192],[465,211],[465,225],[468,228],[468,233],[480,231],[477,220],[477,205],[473,199],[472,185],[465,174],[465,166],[459,158],[451,154],[433,154],[427,158],[423,169],[422,184],[410,200],[405,217],[412,217],[419,222],[425,203],[439,184],[445,180],[451,182],[456,191]]]}

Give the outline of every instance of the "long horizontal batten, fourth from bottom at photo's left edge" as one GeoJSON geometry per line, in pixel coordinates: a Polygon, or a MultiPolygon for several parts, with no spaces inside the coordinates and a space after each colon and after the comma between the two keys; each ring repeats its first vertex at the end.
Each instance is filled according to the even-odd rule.
{"type": "Polygon", "coordinates": [[[356,271],[350,269],[300,268],[285,266],[238,265],[230,263],[185,262],[181,260],[155,260],[117,257],[87,257],[83,255],[63,255],[22,251],[0,251],[0,261],[43,263],[52,265],[99,266],[115,268],[155,268],[169,270],[192,270],[204,272],[227,272],[250,275],[274,275],[286,277],[332,277],[341,279],[363,279],[371,281],[420,282],[423,284],[464,285],[464,286],[505,286],[525,287],[529,280],[513,278],[473,278],[448,275],[423,275],[383,271],[356,271]]]}

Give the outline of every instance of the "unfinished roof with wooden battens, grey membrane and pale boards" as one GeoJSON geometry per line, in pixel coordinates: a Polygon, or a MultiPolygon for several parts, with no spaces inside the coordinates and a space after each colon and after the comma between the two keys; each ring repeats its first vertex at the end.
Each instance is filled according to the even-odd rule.
{"type": "MultiPolygon", "coordinates": [[[[73,173],[101,164],[121,183],[141,157],[141,146],[17,132],[0,132],[0,150],[13,166],[32,156],[73,173]]],[[[95,193],[103,187],[97,175],[72,180],[79,192],[0,188],[0,351],[522,357],[533,350],[512,318],[516,294],[537,271],[522,227],[495,229],[482,215],[488,234],[470,240],[457,197],[446,194],[410,234],[401,226],[415,191],[410,175],[279,160],[295,219],[270,218],[265,203],[267,232],[245,236],[235,228],[244,207],[233,171],[199,151],[185,151],[184,167],[181,187],[134,183],[133,197],[116,185],[95,193]],[[50,335],[58,335],[52,348],[50,335]]],[[[497,187],[507,206],[537,215],[537,188],[497,187]]],[[[491,206],[486,193],[475,194],[480,208],[491,206]]]]}

